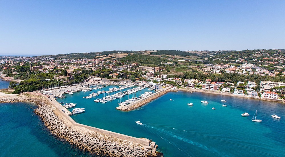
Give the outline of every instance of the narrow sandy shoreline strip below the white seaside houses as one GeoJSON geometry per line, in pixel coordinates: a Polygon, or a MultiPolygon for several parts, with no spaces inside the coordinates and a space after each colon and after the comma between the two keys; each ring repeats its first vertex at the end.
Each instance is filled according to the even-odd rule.
{"type": "Polygon", "coordinates": [[[284,103],[281,99],[275,100],[275,99],[266,99],[261,97],[247,97],[247,96],[241,96],[241,95],[233,95],[231,93],[221,93],[219,91],[209,91],[209,90],[202,90],[202,89],[188,89],[188,88],[178,88],[178,91],[185,91],[185,92],[201,92],[201,93],[210,93],[210,94],[218,94],[218,95],[227,95],[227,96],[233,96],[233,97],[242,97],[242,98],[250,98],[250,99],[259,99],[259,100],[265,100],[265,101],[276,101],[284,103]]]}

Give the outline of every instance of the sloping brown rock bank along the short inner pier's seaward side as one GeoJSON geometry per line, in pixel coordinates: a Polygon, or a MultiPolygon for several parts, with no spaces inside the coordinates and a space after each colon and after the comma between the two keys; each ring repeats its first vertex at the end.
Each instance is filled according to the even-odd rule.
{"type": "Polygon", "coordinates": [[[169,89],[160,91],[159,93],[157,93],[155,95],[152,95],[150,97],[147,97],[147,98],[145,98],[144,100],[142,100],[140,102],[135,102],[131,106],[122,106],[122,108],[120,108],[120,110],[122,110],[122,111],[132,111],[132,110],[137,109],[137,108],[145,105],[146,103],[149,103],[150,101],[160,97],[161,95],[164,95],[164,94],[168,93],[169,91],[170,91],[169,89]]]}

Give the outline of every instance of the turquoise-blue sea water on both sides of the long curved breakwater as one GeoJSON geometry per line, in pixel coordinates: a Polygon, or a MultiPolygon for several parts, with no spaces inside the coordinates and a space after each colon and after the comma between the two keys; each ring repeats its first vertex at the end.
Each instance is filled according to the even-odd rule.
{"type": "MultiPolygon", "coordinates": [[[[85,107],[84,113],[71,116],[76,122],[151,139],[164,156],[285,156],[285,107],[282,103],[179,91],[169,92],[135,111],[123,112],[115,109],[121,100],[104,104],[94,102],[94,98],[82,98],[111,87],[117,86],[65,94],[66,98],[57,101],[85,107]],[[209,104],[201,103],[202,100],[209,104]],[[251,121],[256,110],[261,123],[251,121]],[[244,112],[250,116],[242,117],[244,112]],[[272,118],[272,114],[281,119],[272,118]],[[137,125],[135,121],[138,120],[143,125],[137,125]]],[[[141,93],[144,91],[149,90],[141,93]]],[[[138,97],[141,93],[127,97],[138,97]]],[[[0,104],[0,156],[91,155],[50,134],[30,106],[27,103],[0,104]]]]}

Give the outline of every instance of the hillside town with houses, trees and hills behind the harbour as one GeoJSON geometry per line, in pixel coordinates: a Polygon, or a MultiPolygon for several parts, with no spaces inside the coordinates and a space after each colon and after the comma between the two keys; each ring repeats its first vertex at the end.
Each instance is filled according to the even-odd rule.
{"type": "Polygon", "coordinates": [[[284,102],[284,60],[282,49],[106,51],[0,57],[0,76],[12,81],[12,93],[82,83],[91,76],[284,102]]]}

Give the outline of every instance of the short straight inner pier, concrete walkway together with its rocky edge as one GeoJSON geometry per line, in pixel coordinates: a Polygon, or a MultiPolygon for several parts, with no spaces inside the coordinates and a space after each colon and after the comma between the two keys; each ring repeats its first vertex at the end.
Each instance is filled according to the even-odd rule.
{"type": "Polygon", "coordinates": [[[148,97],[145,97],[139,101],[136,101],[136,102],[131,103],[131,104],[126,105],[126,106],[119,106],[116,109],[119,109],[122,111],[131,111],[131,110],[137,109],[137,108],[145,105],[146,103],[149,103],[150,101],[160,97],[161,95],[168,93],[169,91],[170,91],[169,88],[162,90],[162,91],[158,91],[158,92],[156,92],[152,95],[149,95],[148,97]]]}

